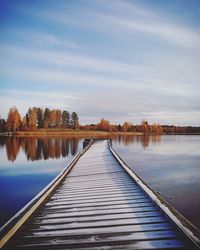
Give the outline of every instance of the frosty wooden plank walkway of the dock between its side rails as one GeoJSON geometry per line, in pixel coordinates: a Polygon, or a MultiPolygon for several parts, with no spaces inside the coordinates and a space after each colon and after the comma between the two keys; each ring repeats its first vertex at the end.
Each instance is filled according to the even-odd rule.
{"type": "Polygon", "coordinates": [[[96,141],[4,249],[198,249],[147,193],[96,141]]]}

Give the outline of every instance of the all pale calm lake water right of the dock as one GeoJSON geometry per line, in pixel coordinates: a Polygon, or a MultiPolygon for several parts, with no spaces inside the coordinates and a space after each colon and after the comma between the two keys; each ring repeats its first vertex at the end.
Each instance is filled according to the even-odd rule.
{"type": "Polygon", "coordinates": [[[119,137],[113,147],[143,180],[200,228],[200,136],[119,137]]]}

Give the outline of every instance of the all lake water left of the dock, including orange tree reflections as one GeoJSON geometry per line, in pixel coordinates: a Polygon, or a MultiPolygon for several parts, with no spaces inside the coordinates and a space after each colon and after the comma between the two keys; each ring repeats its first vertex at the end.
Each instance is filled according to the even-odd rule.
{"type": "Polygon", "coordinates": [[[0,138],[0,227],[40,192],[75,154],[80,138],[0,138]]]}

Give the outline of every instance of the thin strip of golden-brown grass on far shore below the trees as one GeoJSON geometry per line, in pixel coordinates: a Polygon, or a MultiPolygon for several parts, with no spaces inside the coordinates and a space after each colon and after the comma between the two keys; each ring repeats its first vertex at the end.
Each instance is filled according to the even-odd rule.
{"type": "MultiPolygon", "coordinates": [[[[6,135],[6,134],[1,134],[6,135]]],[[[138,132],[106,132],[106,131],[94,131],[94,130],[73,130],[73,129],[38,129],[36,131],[17,131],[13,135],[15,136],[66,136],[66,137],[114,137],[118,135],[143,135],[138,132]]]]}

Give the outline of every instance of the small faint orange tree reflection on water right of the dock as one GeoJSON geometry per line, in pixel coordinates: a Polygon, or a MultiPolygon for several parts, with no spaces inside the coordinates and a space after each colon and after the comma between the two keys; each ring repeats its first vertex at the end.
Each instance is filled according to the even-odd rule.
{"type": "Polygon", "coordinates": [[[161,135],[153,135],[153,136],[127,136],[127,135],[120,135],[113,139],[113,141],[119,144],[123,144],[125,146],[129,146],[131,144],[137,143],[141,144],[142,147],[145,149],[149,146],[149,144],[157,144],[161,142],[161,135]]]}

